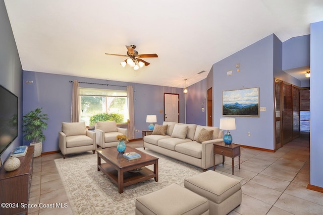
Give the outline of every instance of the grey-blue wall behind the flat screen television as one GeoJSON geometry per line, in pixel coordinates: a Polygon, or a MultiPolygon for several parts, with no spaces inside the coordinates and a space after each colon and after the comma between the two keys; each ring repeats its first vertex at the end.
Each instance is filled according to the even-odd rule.
{"type": "Polygon", "coordinates": [[[0,85],[18,96],[18,137],[1,155],[5,162],[22,141],[22,67],[4,1],[0,1],[0,29],[0,85]]]}

